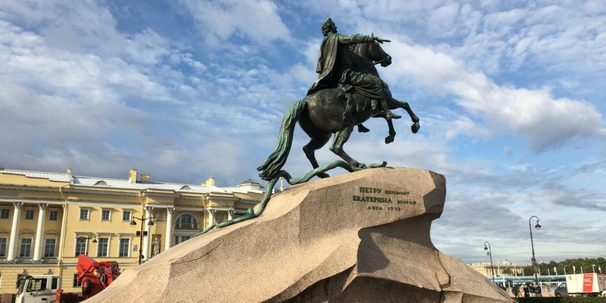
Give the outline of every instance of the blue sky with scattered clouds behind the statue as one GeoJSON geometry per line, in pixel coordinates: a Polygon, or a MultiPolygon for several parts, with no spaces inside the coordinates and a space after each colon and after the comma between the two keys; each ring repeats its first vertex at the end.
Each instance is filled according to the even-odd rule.
{"type": "MultiPolygon", "coordinates": [[[[255,178],[315,81],[320,27],[391,39],[380,68],[421,118],[345,150],[447,178],[436,246],[466,262],[604,256],[604,1],[1,1],[0,164],[218,185],[255,178]],[[328,3],[328,4],[327,4],[328,3]],[[467,258],[478,257],[478,258],[467,258]]],[[[405,113],[400,113],[404,114],[405,113]]],[[[305,173],[297,130],[286,169],[305,173]]],[[[337,159],[327,148],[320,162],[337,159]]]]}

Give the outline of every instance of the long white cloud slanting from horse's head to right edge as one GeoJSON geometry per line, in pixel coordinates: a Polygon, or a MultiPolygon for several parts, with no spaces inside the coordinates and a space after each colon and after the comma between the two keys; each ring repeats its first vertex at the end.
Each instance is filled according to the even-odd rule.
{"type": "Polygon", "coordinates": [[[414,79],[426,89],[454,96],[457,104],[494,132],[528,139],[535,151],[579,138],[606,138],[601,114],[587,102],[554,98],[547,87],[499,86],[483,73],[469,72],[462,62],[429,47],[399,41],[388,47],[394,58],[384,72],[388,82],[414,79]]]}

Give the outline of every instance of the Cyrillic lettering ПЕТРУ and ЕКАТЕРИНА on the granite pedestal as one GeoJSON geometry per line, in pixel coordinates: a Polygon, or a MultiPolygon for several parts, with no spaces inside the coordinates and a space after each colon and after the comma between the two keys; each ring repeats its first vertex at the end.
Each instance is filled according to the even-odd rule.
{"type": "Polygon", "coordinates": [[[410,191],[384,190],[376,187],[359,187],[357,195],[352,196],[356,202],[370,202],[367,210],[400,211],[405,205],[416,205],[415,200],[408,199],[410,191]]]}

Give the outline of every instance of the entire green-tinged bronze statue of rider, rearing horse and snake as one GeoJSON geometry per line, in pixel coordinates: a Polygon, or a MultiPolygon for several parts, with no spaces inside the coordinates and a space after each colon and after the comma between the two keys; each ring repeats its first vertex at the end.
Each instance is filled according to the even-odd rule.
{"type": "Polygon", "coordinates": [[[389,135],[385,137],[386,144],[393,142],[396,135],[392,119],[401,118],[391,113],[391,110],[396,108],[406,110],[413,121],[412,132],[418,132],[419,118],[407,102],[400,102],[391,96],[389,87],[379,77],[375,67],[377,64],[383,67],[391,64],[391,56],[379,45],[390,41],[373,35],[341,35],[337,33],[335,22],[330,18],[322,24],[322,33],[325,38],[320,47],[316,67],[316,72],[319,73],[318,81],[311,86],[304,99],[290,105],[282,118],[275,150],[257,168],[261,171],[261,179],[268,181],[267,191],[259,209],[255,212],[249,208],[244,216],[226,222],[215,222],[198,235],[215,227],[225,227],[261,215],[271,198],[273,187],[281,177],[285,178],[288,184],[294,185],[307,182],[314,176],[327,178],[326,171],[336,167],[350,172],[385,167],[385,161],[381,164],[365,165],[351,158],[343,150],[353,127],[357,126],[358,132],[369,131],[362,122],[370,118],[384,118],[387,121],[389,135]],[[292,178],[287,171],[282,170],[290,153],[297,122],[311,138],[303,147],[303,151],[314,168],[302,178],[292,178]],[[315,151],[327,144],[332,134],[335,134],[335,138],[329,148],[344,161],[334,161],[320,167],[315,151]]]}

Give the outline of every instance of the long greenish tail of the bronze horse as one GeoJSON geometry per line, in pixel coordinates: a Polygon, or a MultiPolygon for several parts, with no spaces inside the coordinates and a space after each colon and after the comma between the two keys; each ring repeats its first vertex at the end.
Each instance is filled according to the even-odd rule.
{"type": "Polygon", "coordinates": [[[293,144],[293,132],[295,132],[295,124],[299,120],[299,115],[305,109],[307,102],[305,100],[299,100],[290,105],[287,112],[282,118],[282,125],[280,126],[280,134],[278,135],[278,143],[276,148],[265,159],[265,162],[257,170],[260,170],[259,177],[266,181],[275,178],[276,174],[286,163],[290,147],[293,144]]]}

